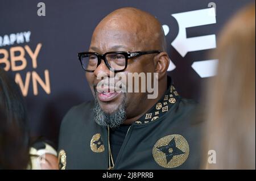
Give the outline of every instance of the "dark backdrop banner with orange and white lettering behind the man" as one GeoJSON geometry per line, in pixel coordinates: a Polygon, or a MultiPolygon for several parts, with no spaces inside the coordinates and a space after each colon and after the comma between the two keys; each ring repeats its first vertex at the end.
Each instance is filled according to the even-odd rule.
{"type": "Polygon", "coordinates": [[[32,136],[57,142],[65,113],[92,100],[77,52],[88,50],[94,28],[121,7],[136,7],[163,25],[168,74],[185,98],[200,100],[215,74],[218,32],[249,0],[0,0],[0,67],[26,99],[32,136]]]}

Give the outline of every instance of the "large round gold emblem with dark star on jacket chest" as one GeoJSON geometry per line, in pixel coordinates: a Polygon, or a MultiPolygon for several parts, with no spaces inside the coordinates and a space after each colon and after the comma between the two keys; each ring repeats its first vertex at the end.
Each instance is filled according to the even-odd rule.
{"type": "Polygon", "coordinates": [[[164,168],[175,168],[187,160],[189,155],[188,142],[180,134],[171,134],[156,142],[152,154],[158,165],[164,168]]]}

